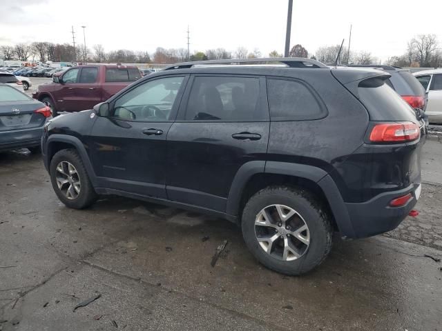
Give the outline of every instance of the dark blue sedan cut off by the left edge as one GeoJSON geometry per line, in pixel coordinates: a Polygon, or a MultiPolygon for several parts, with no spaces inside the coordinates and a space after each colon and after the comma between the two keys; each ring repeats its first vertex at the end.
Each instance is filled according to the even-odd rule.
{"type": "Polygon", "coordinates": [[[0,83],[0,151],[28,148],[40,151],[50,108],[23,92],[0,83]]]}

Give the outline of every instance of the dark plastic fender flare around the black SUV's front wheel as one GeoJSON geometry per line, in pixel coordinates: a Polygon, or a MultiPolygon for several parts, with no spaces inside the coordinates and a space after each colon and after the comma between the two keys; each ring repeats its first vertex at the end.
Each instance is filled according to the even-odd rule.
{"type": "Polygon", "coordinates": [[[49,136],[48,140],[46,141],[46,155],[45,155],[46,158],[45,161],[46,164],[48,165],[48,169],[50,167],[50,157],[52,156],[52,145],[53,143],[56,142],[68,143],[75,147],[79,156],[81,157],[81,161],[83,161],[90,182],[92,183],[93,187],[97,187],[98,186],[97,175],[95,174],[92,163],[90,162],[88,152],[86,152],[86,147],[84,146],[84,143],[81,143],[80,139],[78,139],[77,137],[68,136],[66,134],[51,134],[49,136]]]}

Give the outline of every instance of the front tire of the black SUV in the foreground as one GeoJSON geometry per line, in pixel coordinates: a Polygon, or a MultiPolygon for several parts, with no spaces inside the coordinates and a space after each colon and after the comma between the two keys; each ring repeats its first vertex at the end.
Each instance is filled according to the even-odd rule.
{"type": "Polygon", "coordinates": [[[88,177],[88,173],[86,172],[86,168],[84,168],[83,161],[81,161],[81,158],[79,157],[79,154],[76,150],[67,149],[57,152],[50,161],[49,174],[50,182],[52,183],[52,188],[54,189],[55,194],[57,194],[57,197],[60,199],[60,201],[64,203],[67,207],[73,209],[83,209],[94,203],[97,199],[97,194],[95,193],[92,183],[90,183],[90,179],[88,177]],[[64,167],[66,163],[70,163],[70,165],[73,165],[75,173],[72,174],[72,177],[75,177],[75,179],[59,188],[57,178],[65,179],[68,176],[65,177],[63,174],[61,174],[61,172],[57,170],[57,167],[62,164],[62,168],[64,168],[64,173],[70,174],[70,172],[68,171],[69,168],[64,167]],[[67,193],[67,188],[70,186],[75,186],[73,185],[73,182],[75,183],[75,181],[79,183],[79,190],[74,190],[73,187],[72,192],[77,195],[71,195],[69,197],[67,193]],[[64,190],[66,190],[66,193],[64,192],[64,190]]]}

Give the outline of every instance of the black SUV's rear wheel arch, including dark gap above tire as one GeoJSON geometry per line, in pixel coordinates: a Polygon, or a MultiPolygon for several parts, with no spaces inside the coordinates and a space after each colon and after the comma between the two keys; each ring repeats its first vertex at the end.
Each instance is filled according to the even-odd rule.
{"type": "Polygon", "coordinates": [[[294,164],[276,161],[250,161],[238,170],[229,197],[226,213],[240,214],[248,199],[271,185],[289,185],[301,187],[316,194],[324,201],[332,215],[332,223],[343,237],[354,237],[354,230],[349,219],[345,203],[338,187],[325,170],[313,165],[294,164]]]}

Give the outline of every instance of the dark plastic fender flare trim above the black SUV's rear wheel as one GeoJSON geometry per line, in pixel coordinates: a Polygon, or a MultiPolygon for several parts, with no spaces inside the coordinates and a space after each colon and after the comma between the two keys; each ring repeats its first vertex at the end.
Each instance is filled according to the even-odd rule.
{"type": "Polygon", "coordinates": [[[276,161],[250,161],[245,163],[233,179],[229,197],[227,198],[227,214],[238,215],[242,191],[249,179],[258,173],[300,177],[318,184],[324,192],[336,224],[338,225],[338,229],[343,234],[343,237],[354,237],[352,222],[336,183],[325,170],[313,165],[276,161]]]}

